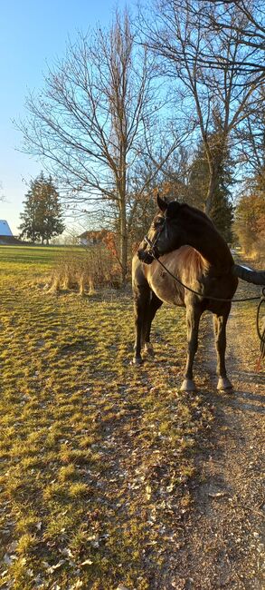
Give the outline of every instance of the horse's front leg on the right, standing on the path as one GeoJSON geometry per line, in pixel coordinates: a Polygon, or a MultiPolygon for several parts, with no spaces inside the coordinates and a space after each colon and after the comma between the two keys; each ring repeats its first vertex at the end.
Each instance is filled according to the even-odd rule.
{"type": "Polygon", "coordinates": [[[215,314],[213,317],[213,326],[215,332],[215,347],[217,352],[217,375],[218,385],[217,389],[222,391],[232,389],[232,383],[226,376],[225,369],[225,349],[226,349],[226,323],[228,320],[231,305],[222,313],[222,315],[215,314]]]}

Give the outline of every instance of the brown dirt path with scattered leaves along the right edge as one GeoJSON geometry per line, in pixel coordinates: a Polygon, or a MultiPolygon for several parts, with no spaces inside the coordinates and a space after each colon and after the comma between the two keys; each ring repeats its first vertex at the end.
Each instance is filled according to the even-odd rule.
{"type": "Polygon", "coordinates": [[[206,387],[215,421],[196,459],[194,512],[185,526],[185,549],[176,553],[171,585],[165,582],[158,587],[265,587],[265,374],[264,366],[259,372],[255,369],[259,350],[253,336],[255,310],[255,304],[247,313],[232,308],[227,335],[227,368],[234,386],[230,395],[213,389],[212,319],[206,319],[208,346],[203,349],[203,358],[199,351],[198,362],[208,375],[206,387]]]}

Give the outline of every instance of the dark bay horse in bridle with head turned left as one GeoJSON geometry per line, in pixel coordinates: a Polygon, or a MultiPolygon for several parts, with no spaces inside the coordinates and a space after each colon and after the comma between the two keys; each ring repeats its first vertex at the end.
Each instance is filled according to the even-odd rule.
{"type": "Polygon", "coordinates": [[[186,308],[187,360],[182,389],[194,391],[193,365],[198,347],[198,330],[204,310],[213,312],[217,351],[217,388],[229,390],[231,381],[225,369],[226,322],[238,277],[265,284],[265,273],[234,264],[232,253],[203,213],[185,203],[167,203],[157,196],[159,212],[152,222],[147,240],[142,241],[132,265],[135,302],[136,342],[134,362],[142,362],[141,349],[151,352],[150,329],[163,302],[186,308]],[[163,262],[195,294],[177,283],[157,260],[163,262]],[[214,300],[212,298],[227,301],[214,300]]]}

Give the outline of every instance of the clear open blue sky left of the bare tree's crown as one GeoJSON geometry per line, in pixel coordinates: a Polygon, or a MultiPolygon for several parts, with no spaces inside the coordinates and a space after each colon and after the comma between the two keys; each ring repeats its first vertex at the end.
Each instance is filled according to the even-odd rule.
{"type": "Polygon", "coordinates": [[[18,151],[21,134],[13,120],[24,118],[25,96],[43,86],[47,64],[65,53],[67,39],[98,22],[108,25],[124,0],[1,0],[0,13],[0,219],[17,233],[26,182],[41,165],[18,151]]]}

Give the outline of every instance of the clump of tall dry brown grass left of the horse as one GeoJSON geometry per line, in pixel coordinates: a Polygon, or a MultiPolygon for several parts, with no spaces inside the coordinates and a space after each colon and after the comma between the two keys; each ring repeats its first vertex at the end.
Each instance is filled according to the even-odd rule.
{"type": "Polygon", "coordinates": [[[117,261],[104,245],[97,245],[64,253],[52,272],[49,291],[78,289],[80,296],[84,296],[104,287],[117,289],[119,283],[117,261]]]}

